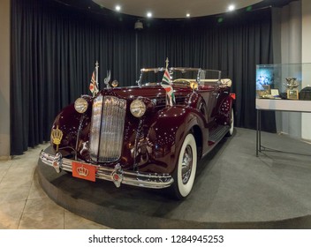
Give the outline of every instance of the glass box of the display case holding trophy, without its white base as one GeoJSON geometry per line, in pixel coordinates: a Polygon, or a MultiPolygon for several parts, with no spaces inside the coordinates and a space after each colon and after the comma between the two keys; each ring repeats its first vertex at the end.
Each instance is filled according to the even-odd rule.
{"type": "Polygon", "coordinates": [[[256,98],[311,101],[311,64],[259,64],[256,98]]]}

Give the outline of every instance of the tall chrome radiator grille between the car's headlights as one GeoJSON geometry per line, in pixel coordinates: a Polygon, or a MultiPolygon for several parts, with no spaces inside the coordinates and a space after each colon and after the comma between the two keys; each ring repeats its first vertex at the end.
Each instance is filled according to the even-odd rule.
{"type": "Polygon", "coordinates": [[[99,95],[93,102],[89,153],[93,161],[117,161],[121,156],[126,101],[99,95]]]}

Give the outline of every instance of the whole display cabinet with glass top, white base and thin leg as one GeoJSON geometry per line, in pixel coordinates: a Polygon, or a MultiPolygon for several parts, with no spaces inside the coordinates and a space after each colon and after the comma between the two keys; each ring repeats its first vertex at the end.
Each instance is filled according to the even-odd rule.
{"type": "Polygon", "coordinates": [[[256,155],[262,151],[261,111],[311,113],[311,64],[259,64],[256,66],[256,155]]]}

